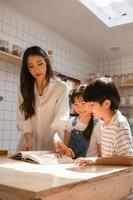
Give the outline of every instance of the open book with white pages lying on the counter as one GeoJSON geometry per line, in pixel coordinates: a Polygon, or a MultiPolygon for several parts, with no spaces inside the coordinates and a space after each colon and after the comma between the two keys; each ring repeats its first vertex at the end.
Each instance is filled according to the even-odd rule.
{"type": "Polygon", "coordinates": [[[50,151],[20,151],[10,158],[37,164],[73,163],[72,158],[65,155],[60,158],[50,151]]]}

